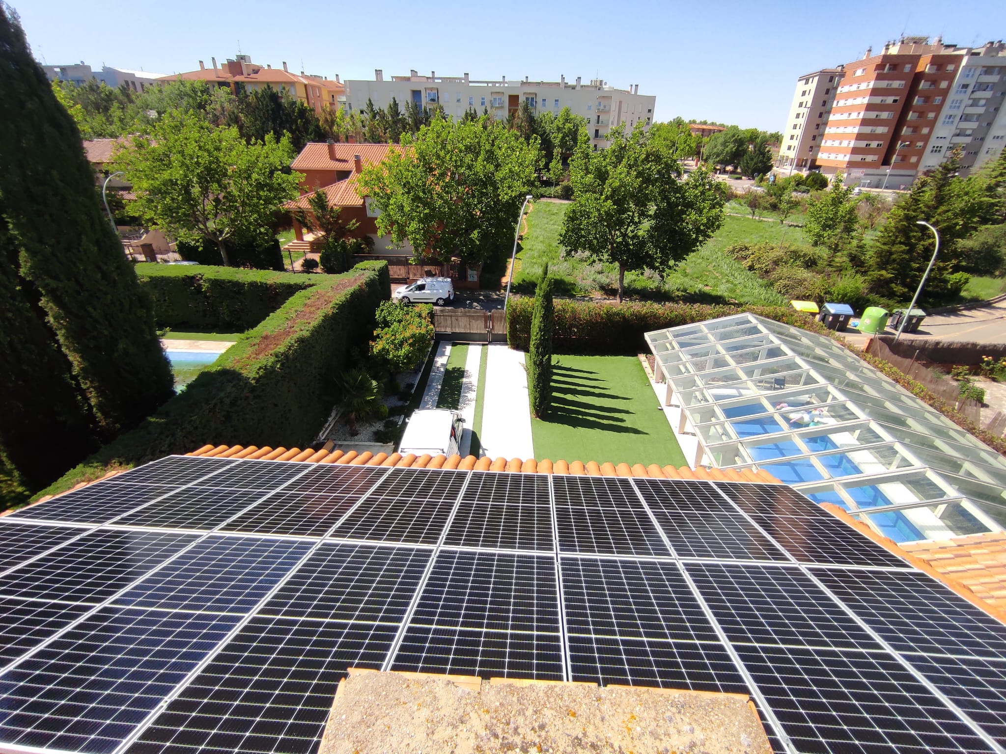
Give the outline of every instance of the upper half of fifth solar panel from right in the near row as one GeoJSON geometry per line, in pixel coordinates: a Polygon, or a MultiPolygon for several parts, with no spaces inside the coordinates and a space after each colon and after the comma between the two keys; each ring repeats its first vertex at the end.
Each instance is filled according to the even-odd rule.
{"type": "Polygon", "coordinates": [[[260,610],[324,620],[400,622],[430,562],[411,547],[326,542],[260,610]]]}

